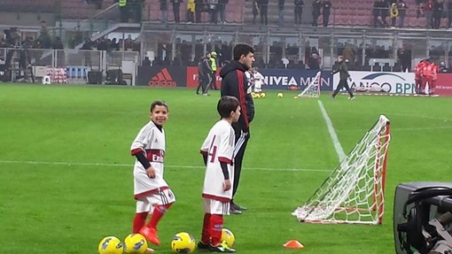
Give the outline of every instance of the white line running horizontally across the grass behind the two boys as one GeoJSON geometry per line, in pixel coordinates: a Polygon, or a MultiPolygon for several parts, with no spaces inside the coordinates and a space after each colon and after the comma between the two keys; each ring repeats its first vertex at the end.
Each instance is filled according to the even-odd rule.
{"type": "MultiPolygon", "coordinates": [[[[79,166],[118,166],[132,167],[132,164],[121,163],[89,163],[89,162],[60,162],[60,161],[20,161],[20,160],[0,160],[0,164],[33,164],[33,165],[79,165],[79,166]]],[[[168,168],[192,168],[204,169],[202,165],[165,165],[168,168]]],[[[295,171],[295,172],[330,172],[326,169],[314,168],[269,168],[269,167],[243,167],[245,170],[261,170],[261,171],[295,171]]]]}

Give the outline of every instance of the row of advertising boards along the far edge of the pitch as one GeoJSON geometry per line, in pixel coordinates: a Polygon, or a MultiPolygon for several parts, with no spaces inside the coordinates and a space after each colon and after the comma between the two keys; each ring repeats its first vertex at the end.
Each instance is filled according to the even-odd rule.
{"type": "MultiPolygon", "coordinates": [[[[222,79],[217,70],[217,87],[222,79]]],[[[262,89],[304,89],[316,75],[313,70],[259,69],[265,79],[262,89]]],[[[376,92],[392,95],[415,94],[414,73],[350,72],[352,88],[362,92],[376,92]]],[[[321,90],[331,91],[339,84],[339,73],[322,72],[321,90]]],[[[198,87],[198,67],[196,66],[138,66],[136,85],[150,87],[198,87]]],[[[452,96],[452,74],[439,73],[435,94],[452,96]]]]}

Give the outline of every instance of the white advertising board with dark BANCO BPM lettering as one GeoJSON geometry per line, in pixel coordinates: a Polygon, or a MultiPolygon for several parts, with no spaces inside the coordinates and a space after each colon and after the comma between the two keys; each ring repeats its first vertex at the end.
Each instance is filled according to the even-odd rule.
{"type": "MultiPolygon", "coordinates": [[[[348,86],[357,92],[386,92],[391,94],[414,94],[414,73],[349,72],[348,86]]],[[[338,87],[339,73],[333,75],[333,90],[338,87]]],[[[346,91],[342,89],[341,91],[346,91]]]]}

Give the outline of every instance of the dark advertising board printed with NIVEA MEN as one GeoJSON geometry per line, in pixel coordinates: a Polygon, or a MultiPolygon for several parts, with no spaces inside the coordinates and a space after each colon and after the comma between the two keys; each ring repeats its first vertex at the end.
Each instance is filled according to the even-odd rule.
{"type": "MultiPolygon", "coordinates": [[[[311,70],[293,70],[293,69],[259,69],[265,80],[262,89],[305,89],[314,79],[318,71],[311,70]]],[[[320,89],[331,91],[332,74],[331,72],[322,72],[322,83],[320,89]]]]}

